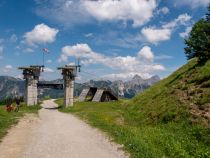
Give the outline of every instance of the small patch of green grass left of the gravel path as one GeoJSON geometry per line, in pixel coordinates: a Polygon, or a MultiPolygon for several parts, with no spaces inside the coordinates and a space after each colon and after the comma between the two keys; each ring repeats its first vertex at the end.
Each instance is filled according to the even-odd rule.
{"type": "Polygon", "coordinates": [[[26,113],[37,113],[41,107],[37,106],[26,106],[21,104],[19,112],[8,113],[5,106],[0,106],[0,141],[7,134],[8,129],[23,117],[26,113]]]}

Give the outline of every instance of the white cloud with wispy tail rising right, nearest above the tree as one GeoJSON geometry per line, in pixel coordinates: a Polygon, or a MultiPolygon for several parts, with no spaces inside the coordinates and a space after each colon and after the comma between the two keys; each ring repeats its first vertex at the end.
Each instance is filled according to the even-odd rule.
{"type": "Polygon", "coordinates": [[[158,44],[162,41],[167,41],[171,38],[172,32],[180,27],[187,26],[191,20],[188,14],[181,14],[175,20],[162,25],[160,28],[147,27],[141,30],[142,36],[147,42],[158,44]]]}

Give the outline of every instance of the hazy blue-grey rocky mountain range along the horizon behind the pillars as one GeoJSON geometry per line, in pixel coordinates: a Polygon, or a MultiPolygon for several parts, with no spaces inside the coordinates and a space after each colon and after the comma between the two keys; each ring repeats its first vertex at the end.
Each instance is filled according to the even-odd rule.
{"type": "MultiPolygon", "coordinates": [[[[90,80],[86,83],[75,83],[75,96],[79,96],[83,88],[86,87],[98,87],[111,89],[116,95],[125,98],[132,98],[139,92],[142,92],[146,88],[150,87],[154,83],[160,80],[159,76],[153,76],[149,79],[142,79],[140,76],[135,75],[130,81],[94,81],[90,80]]],[[[47,83],[63,83],[62,79],[53,81],[45,81],[47,83]]],[[[7,96],[14,96],[15,93],[18,95],[24,95],[25,81],[9,76],[0,76],[0,99],[7,96]]],[[[59,98],[63,97],[63,90],[55,89],[40,89],[40,97],[52,97],[59,98]]]]}

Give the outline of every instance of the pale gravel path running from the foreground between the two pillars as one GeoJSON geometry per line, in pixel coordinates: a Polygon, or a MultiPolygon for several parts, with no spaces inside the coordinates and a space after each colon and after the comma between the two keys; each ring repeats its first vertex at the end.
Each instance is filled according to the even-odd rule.
{"type": "Polygon", "coordinates": [[[11,129],[0,144],[3,158],[10,158],[11,154],[13,158],[126,157],[118,150],[119,145],[111,143],[104,134],[73,115],[59,112],[56,106],[52,100],[45,101],[39,119],[23,119],[11,129]]]}

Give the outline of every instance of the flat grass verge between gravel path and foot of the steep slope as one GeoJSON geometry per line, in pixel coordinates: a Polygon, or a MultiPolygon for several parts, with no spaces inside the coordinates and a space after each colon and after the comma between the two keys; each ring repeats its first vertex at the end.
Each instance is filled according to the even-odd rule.
{"type": "MultiPolygon", "coordinates": [[[[62,105],[62,100],[56,101],[62,105]]],[[[201,126],[192,126],[187,121],[162,124],[130,124],[130,115],[125,102],[76,103],[71,108],[60,108],[73,113],[93,127],[110,135],[123,144],[133,158],[208,158],[210,157],[210,131],[201,126]]]]}

